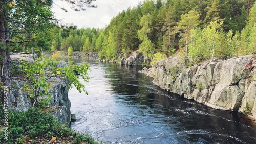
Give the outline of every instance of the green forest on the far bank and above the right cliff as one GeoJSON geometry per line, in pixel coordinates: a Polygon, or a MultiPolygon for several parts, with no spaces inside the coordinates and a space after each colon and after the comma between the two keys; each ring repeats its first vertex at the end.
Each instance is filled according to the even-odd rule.
{"type": "Polygon", "coordinates": [[[56,25],[48,44],[52,51],[98,52],[100,59],[139,51],[145,63],[180,55],[195,64],[256,53],[255,15],[254,0],[147,0],[103,29],[56,25]]]}

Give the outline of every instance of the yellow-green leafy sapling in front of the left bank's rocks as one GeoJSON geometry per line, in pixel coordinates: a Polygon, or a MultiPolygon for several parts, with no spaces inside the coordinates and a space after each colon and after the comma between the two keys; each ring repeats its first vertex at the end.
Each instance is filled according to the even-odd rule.
{"type": "Polygon", "coordinates": [[[34,59],[32,63],[23,61],[23,63],[20,65],[22,72],[27,75],[28,81],[24,84],[25,86],[23,90],[29,94],[33,101],[33,106],[48,106],[49,102],[51,101],[48,89],[51,87],[51,85],[47,80],[52,77],[57,77],[63,81],[68,81],[68,89],[75,86],[80,93],[83,91],[88,94],[84,89],[84,85],[78,80],[79,76],[74,73],[74,71],[77,71],[83,80],[87,82],[89,79],[87,75],[87,71],[89,70],[88,65],[70,65],[56,68],[57,63],[59,63],[59,61],[55,61],[50,58],[38,58],[34,59]],[[48,98],[45,98],[47,95],[48,98]]]}

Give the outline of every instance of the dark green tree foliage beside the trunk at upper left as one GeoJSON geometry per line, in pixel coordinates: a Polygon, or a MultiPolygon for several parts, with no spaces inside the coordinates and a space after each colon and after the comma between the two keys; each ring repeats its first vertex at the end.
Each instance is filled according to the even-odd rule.
{"type": "MultiPolygon", "coordinates": [[[[8,2],[11,4],[14,1],[8,2]]],[[[15,1],[15,4],[11,4],[12,6],[7,5],[6,8],[1,9],[1,13],[8,9],[4,12],[5,18],[9,21],[6,25],[11,30],[9,33],[11,43],[16,44],[16,46],[10,46],[8,51],[30,51],[32,46],[39,51],[50,49],[48,41],[50,41],[50,27],[53,26],[51,4],[50,1],[15,1]]],[[[1,19],[0,21],[5,20],[1,19]]],[[[8,28],[6,29],[8,30],[8,28]]]]}

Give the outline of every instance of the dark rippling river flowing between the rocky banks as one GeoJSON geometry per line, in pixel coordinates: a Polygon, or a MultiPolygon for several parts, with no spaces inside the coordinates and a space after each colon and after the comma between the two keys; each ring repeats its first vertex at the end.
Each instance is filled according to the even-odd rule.
{"type": "Polygon", "coordinates": [[[140,66],[75,61],[83,63],[91,69],[89,95],[69,92],[76,131],[104,143],[256,143],[249,119],[168,93],[140,66]]]}

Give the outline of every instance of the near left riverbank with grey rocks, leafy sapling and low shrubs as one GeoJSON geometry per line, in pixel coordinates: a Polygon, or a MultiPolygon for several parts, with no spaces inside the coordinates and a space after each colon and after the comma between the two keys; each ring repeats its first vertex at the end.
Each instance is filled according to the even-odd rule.
{"type": "MultiPolygon", "coordinates": [[[[67,78],[65,68],[63,71],[63,67],[68,66],[66,62],[33,59],[33,55],[27,54],[13,54],[11,59],[13,65],[7,93],[8,106],[5,113],[3,109],[0,110],[1,119],[8,119],[0,122],[1,143],[98,143],[88,134],[80,134],[69,128],[71,103],[68,91],[69,84],[74,81],[67,78]],[[30,73],[31,70],[33,73],[30,73]],[[35,75],[36,82],[32,83],[30,78],[35,75]],[[46,89],[44,85],[47,85],[46,89]],[[40,91],[41,95],[38,91],[31,92],[30,88],[40,91]]],[[[75,67],[67,68],[76,70],[75,67]]],[[[84,69],[86,66],[78,68],[87,73],[87,69],[84,69]]],[[[84,75],[83,72],[79,71],[80,75],[84,75]]],[[[77,75],[74,75],[72,73],[69,77],[76,78],[77,75]]]]}

